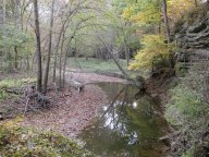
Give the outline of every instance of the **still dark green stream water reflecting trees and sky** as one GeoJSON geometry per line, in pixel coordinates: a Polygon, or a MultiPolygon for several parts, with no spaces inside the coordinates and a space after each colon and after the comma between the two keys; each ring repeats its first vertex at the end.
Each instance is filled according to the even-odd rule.
{"type": "Polygon", "coordinates": [[[163,157],[167,133],[160,102],[133,85],[99,83],[109,104],[79,135],[87,149],[101,157],[163,157]]]}

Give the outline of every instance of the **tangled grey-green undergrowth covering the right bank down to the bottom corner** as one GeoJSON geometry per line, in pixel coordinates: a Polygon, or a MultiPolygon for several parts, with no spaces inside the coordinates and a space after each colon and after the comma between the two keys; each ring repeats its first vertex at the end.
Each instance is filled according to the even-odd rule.
{"type": "Polygon", "coordinates": [[[176,129],[182,131],[175,137],[174,147],[177,156],[193,157],[197,156],[199,148],[206,150],[198,154],[204,157],[209,152],[208,116],[209,116],[209,86],[208,71],[209,67],[193,68],[177,86],[171,89],[171,100],[167,106],[165,118],[176,129]],[[204,143],[204,145],[202,145],[204,143]]]}

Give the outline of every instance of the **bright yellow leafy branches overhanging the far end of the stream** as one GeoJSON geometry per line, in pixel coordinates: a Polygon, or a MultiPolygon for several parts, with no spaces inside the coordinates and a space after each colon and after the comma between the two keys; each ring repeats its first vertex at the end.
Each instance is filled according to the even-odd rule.
{"type": "Polygon", "coordinates": [[[144,48],[135,56],[135,62],[131,63],[130,70],[151,68],[152,61],[167,58],[172,47],[164,44],[164,38],[160,35],[145,35],[142,44],[144,48]]]}

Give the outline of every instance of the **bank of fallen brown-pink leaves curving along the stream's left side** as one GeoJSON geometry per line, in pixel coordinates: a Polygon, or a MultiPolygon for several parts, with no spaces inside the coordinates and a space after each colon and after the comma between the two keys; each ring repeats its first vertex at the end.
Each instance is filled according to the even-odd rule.
{"type": "MultiPolygon", "coordinates": [[[[98,75],[95,73],[72,73],[70,78],[94,82],[124,82],[124,80],[98,75]]],[[[107,104],[106,94],[96,85],[86,85],[78,93],[66,87],[62,93],[49,93],[57,99],[56,107],[38,113],[28,113],[23,121],[24,125],[32,125],[44,130],[57,131],[63,135],[76,136],[97,114],[99,106],[107,104]]]]}

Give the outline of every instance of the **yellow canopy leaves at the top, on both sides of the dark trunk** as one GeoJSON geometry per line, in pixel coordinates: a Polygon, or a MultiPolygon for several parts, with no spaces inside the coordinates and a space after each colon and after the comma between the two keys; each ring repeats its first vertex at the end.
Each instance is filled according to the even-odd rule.
{"type": "MultiPolygon", "coordinates": [[[[183,14],[195,7],[194,0],[168,0],[169,19],[175,23],[183,14]]],[[[161,1],[140,0],[124,9],[122,17],[140,25],[162,20],[161,1]]]]}

